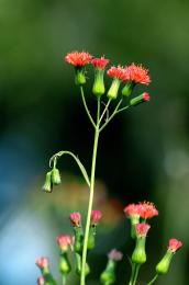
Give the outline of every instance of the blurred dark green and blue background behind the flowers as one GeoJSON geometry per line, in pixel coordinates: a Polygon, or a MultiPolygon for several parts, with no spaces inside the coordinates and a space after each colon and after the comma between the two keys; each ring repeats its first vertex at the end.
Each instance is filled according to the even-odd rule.
{"type": "MultiPolygon", "coordinates": [[[[149,88],[142,88],[152,95],[149,104],[118,116],[100,140],[96,204],[104,210],[104,221],[90,256],[93,273],[88,282],[99,284],[107,252],[118,248],[125,258],[116,284],[126,284],[126,253],[133,246],[122,208],[146,200],[155,203],[159,217],[152,221],[148,261],[138,284],[154,275],[173,237],[185,247],[157,284],[188,284],[188,15],[187,0],[0,0],[0,284],[35,284],[37,255],[51,256],[56,275],[55,237],[71,232],[71,210],[85,213],[87,190],[69,158],[60,163],[63,190],[41,192],[48,159],[56,151],[69,149],[90,168],[92,128],[74,70],[63,60],[75,49],[105,55],[112,65],[143,64],[152,76],[149,88]]],[[[92,81],[90,71],[91,111],[92,81]]]]}

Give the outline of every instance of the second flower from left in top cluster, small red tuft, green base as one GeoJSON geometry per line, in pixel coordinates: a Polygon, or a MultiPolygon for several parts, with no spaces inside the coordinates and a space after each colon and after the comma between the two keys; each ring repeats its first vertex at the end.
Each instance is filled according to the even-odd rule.
{"type": "Polygon", "coordinates": [[[91,64],[94,67],[94,82],[92,87],[92,93],[99,96],[105,92],[103,75],[104,75],[104,68],[109,64],[109,59],[104,57],[93,58],[91,60],[91,64]]]}

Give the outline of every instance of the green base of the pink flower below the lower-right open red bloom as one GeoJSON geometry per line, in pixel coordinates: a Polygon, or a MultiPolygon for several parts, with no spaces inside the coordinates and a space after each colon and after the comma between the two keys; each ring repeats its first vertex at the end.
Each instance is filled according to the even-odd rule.
{"type": "Polygon", "coordinates": [[[146,262],[145,241],[145,238],[138,238],[136,240],[136,247],[132,254],[133,263],[143,264],[146,262]]]}

